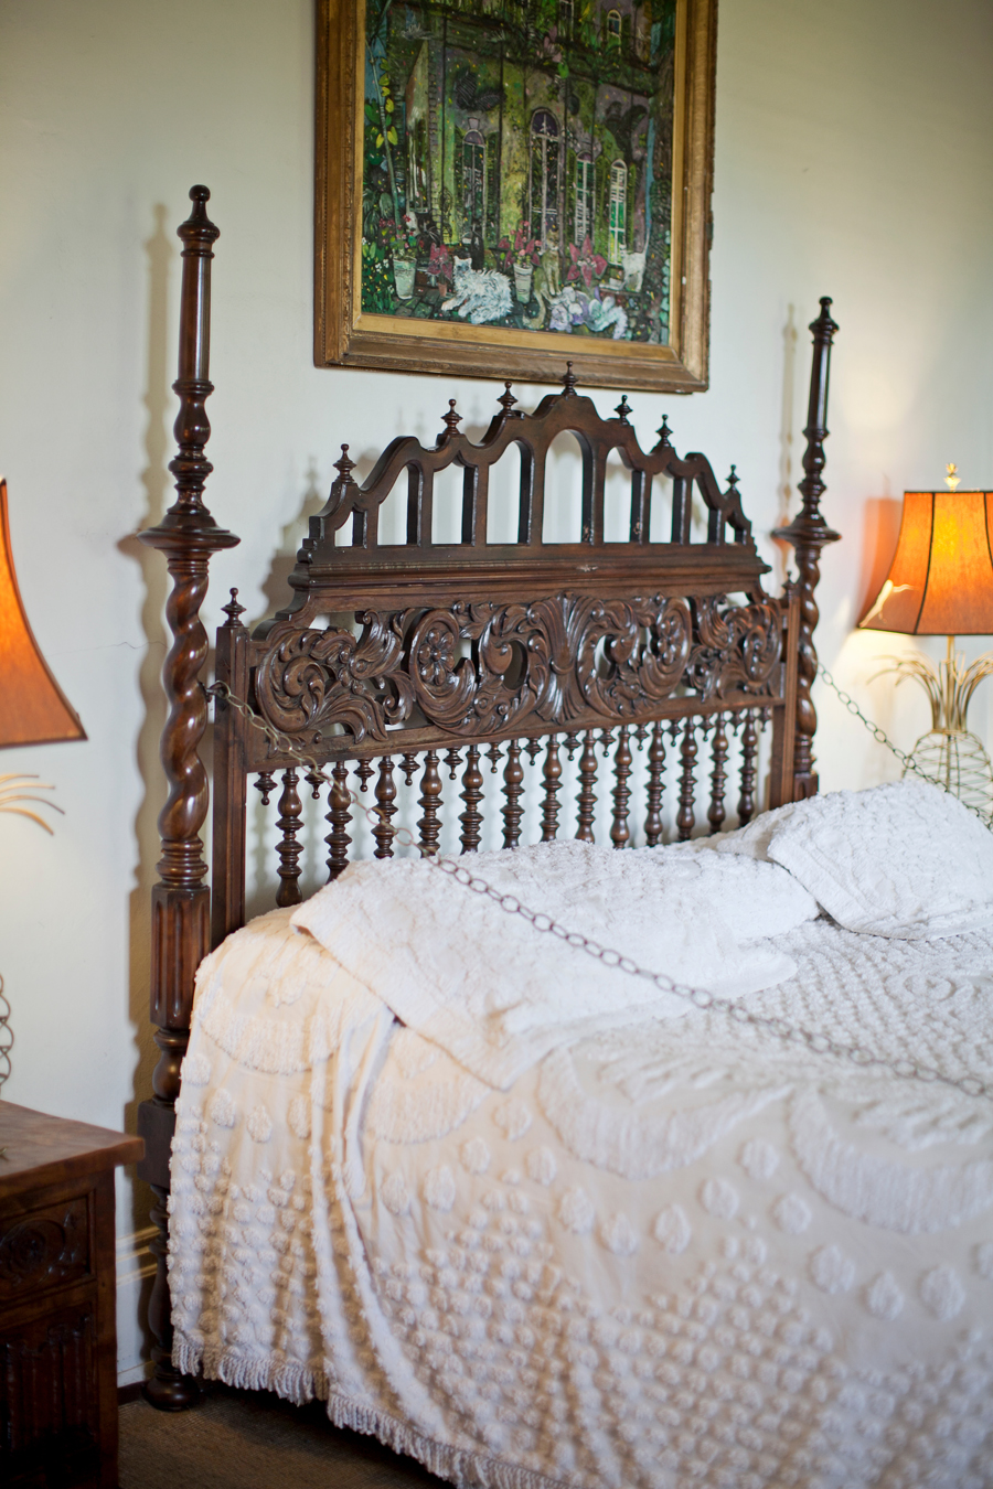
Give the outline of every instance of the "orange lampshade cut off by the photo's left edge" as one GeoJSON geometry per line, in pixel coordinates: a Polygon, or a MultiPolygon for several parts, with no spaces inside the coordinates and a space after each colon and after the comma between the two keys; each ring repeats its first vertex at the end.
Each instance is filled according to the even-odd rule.
{"type": "Polygon", "coordinates": [[[0,747],[85,739],[24,613],[10,551],[7,482],[0,481],[0,747]]]}

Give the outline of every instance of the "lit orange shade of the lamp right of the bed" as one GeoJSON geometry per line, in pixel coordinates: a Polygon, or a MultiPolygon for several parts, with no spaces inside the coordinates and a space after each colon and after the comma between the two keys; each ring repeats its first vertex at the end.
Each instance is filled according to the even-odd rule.
{"type": "Polygon", "coordinates": [[[913,636],[993,633],[993,491],[904,491],[890,572],[859,625],[913,636]]]}

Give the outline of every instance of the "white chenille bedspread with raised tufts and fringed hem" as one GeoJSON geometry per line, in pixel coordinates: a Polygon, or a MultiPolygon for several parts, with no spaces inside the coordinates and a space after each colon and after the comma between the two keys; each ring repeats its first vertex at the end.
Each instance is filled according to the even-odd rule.
{"type": "MultiPolygon", "coordinates": [[[[993,1080],[993,932],[771,950],[749,1008],[993,1080]]],[[[265,916],[201,975],[170,1282],[180,1368],[460,1485],[993,1486],[993,1103],[716,1011],[499,1090],[265,916]]]]}

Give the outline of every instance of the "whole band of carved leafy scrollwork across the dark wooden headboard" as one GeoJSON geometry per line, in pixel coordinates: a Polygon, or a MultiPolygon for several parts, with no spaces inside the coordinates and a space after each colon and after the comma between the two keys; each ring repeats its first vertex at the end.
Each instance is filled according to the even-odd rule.
{"type": "Polygon", "coordinates": [[[363,612],[359,634],[292,628],[256,669],[265,716],[286,734],[386,742],[423,719],[466,737],[590,715],[651,715],[682,685],[706,700],[761,695],[780,658],[777,608],[721,596],[601,600],[558,594],[530,605],[363,612]]]}

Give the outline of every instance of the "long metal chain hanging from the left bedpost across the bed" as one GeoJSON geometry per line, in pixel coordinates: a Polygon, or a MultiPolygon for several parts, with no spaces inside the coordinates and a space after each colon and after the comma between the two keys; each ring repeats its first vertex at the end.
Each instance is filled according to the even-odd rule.
{"type": "MultiPolygon", "coordinates": [[[[828,677],[828,675],[825,676],[828,677]]],[[[264,734],[275,749],[296,759],[301,765],[307,765],[311,780],[322,780],[326,785],[331,785],[331,777],[320,768],[311,755],[301,750],[287,734],[274,728],[268,719],[264,719],[252,707],[249,707],[247,703],[237,698],[226,683],[214,682],[211,686],[204,688],[204,692],[211,698],[223,700],[228,707],[235,709],[253,730],[264,734]]],[[[858,706],[855,706],[855,712],[858,713],[858,706]]],[[[859,718],[862,718],[861,713],[859,718]]],[[[868,724],[868,721],[863,722],[868,724]]],[[[868,727],[872,728],[871,724],[868,727]]],[[[878,733],[883,734],[881,730],[878,733]]],[[[886,736],[883,736],[883,739],[886,739],[886,736]]],[[[360,801],[351,789],[348,789],[348,801],[351,806],[357,807],[372,826],[380,826],[383,819],[377,807],[366,807],[366,804],[360,801]]],[[[591,956],[603,966],[616,968],[621,972],[627,972],[630,977],[640,977],[645,981],[652,983],[658,992],[680,998],[685,1002],[692,1004],[694,1008],[715,1010],[716,1013],[727,1014],[727,1017],[734,1023],[747,1024],[752,1029],[762,1030],[764,1033],[773,1033],[785,1044],[799,1045],[810,1050],[813,1054],[831,1054],[837,1059],[858,1065],[861,1069],[874,1068],[889,1071],[890,1075],[896,1075],[899,1080],[916,1080],[929,1085],[950,1085],[954,1090],[963,1091],[966,1096],[980,1096],[987,1100],[993,1100],[993,1085],[983,1081],[978,1075],[965,1075],[956,1080],[954,1077],[942,1075],[941,1071],[936,1071],[932,1066],[919,1065],[916,1060],[887,1060],[884,1056],[878,1056],[874,1054],[872,1050],[866,1050],[865,1045],[843,1044],[838,1039],[829,1038],[826,1033],[817,1033],[814,1030],[804,1029],[799,1024],[791,1024],[786,1018],[774,1018],[765,1014],[752,1013],[744,1008],[743,1004],[735,1004],[729,998],[719,998],[706,987],[691,987],[686,983],[676,983],[665,972],[652,972],[645,966],[639,966],[639,963],[630,956],[624,956],[612,947],[600,946],[598,941],[584,935],[581,931],[567,931],[566,926],[552,920],[552,917],[543,911],[530,910],[527,905],[523,905],[515,895],[508,895],[494,889],[493,884],[485,881],[485,879],[473,874],[472,870],[466,868],[456,859],[444,858],[438,849],[423,847],[423,844],[418,843],[414,834],[406,828],[395,828],[393,841],[399,843],[400,847],[417,849],[430,868],[454,879],[456,883],[463,884],[472,893],[484,895],[487,899],[491,899],[506,914],[520,916],[540,935],[551,935],[558,941],[564,941],[566,946],[572,946],[578,951],[585,951],[587,956],[591,956]]]]}

